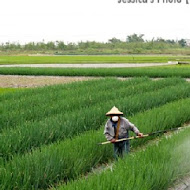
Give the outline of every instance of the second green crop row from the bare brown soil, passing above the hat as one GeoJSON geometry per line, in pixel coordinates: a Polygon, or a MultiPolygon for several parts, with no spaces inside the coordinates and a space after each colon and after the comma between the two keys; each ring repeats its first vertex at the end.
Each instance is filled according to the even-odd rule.
{"type": "MultiPolygon", "coordinates": [[[[145,81],[148,81],[148,79],[134,79],[123,82],[116,80],[115,84],[113,84],[112,86],[116,88],[114,92],[113,88],[109,87],[109,84],[112,85],[109,81],[108,84],[106,82],[104,83],[104,86],[109,87],[108,89],[106,89],[105,87],[104,91],[99,91],[100,87],[94,87],[95,90],[90,91],[88,91],[87,89],[86,91],[82,90],[81,93],[77,93],[75,89],[72,89],[68,90],[68,93],[66,93],[66,95],[63,95],[63,97],[59,95],[60,98],[57,98],[56,94],[59,92],[56,92],[54,96],[52,95],[51,98],[53,99],[53,103],[51,99],[49,100],[49,96],[46,95],[46,93],[34,97],[28,96],[25,99],[20,98],[19,100],[16,99],[13,101],[2,102],[0,130],[2,130],[3,128],[14,128],[16,125],[23,125],[24,123],[28,123],[29,121],[40,121],[42,119],[45,119],[46,117],[57,114],[62,115],[64,113],[67,113],[68,111],[88,108],[95,104],[101,104],[101,102],[119,98],[122,99],[127,95],[144,92],[147,88],[150,88],[152,90],[156,88],[156,86],[152,86],[153,82],[151,81],[147,84],[144,84],[142,87],[137,86],[137,84],[145,81]],[[117,87],[115,85],[117,85],[117,87]]],[[[101,82],[102,81],[100,81],[100,83],[101,82]]],[[[175,85],[177,83],[184,83],[184,81],[180,79],[169,79],[157,81],[156,84],[158,85],[158,88],[162,88],[164,86],[175,85]]]]}

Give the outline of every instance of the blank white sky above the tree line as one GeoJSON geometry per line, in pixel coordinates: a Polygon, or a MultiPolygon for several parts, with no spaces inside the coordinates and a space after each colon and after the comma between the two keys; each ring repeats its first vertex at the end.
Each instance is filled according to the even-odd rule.
{"type": "MultiPolygon", "coordinates": [[[[0,43],[62,40],[190,39],[190,4],[119,4],[118,0],[0,0],[0,43]]],[[[162,1],[162,0],[160,0],[162,1]]]]}

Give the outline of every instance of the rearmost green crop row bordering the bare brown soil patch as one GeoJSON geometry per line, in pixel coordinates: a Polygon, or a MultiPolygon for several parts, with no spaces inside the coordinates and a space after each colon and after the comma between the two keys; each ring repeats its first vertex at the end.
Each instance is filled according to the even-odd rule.
{"type": "MultiPolygon", "coordinates": [[[[137,79],[137,81],[138,80],[140,79],[137,79]]],[[[130,82],[131,81],[128,83],[130,84],[130,82]]],[[[56,101],[61,98],[65,99],[73,95],[77,96],[85,95],[85,93],[89,94],[91,91],[93,94],[94,88],[100,91],[107,90],[111,88],[112,85],[115,87],[117,84],[120,84],[122,86],[124,83],[122,83],[122,81],[118,81],[117,79],[106,78],[99,80],[80,81],[64,85],[51,85],[43,88],[27,89],[26,91],[20,91],[14,94],[3,96],[1,97],[1,102],[3,102],[3,104],[9,102],[10,105],[14,105],[14,108],[17,109],[19,107],[26,106],[30,99],[33,101],[39,101],[35,103],[41,102],[43,104],[47,103],[48,101],[56,101]]]]}

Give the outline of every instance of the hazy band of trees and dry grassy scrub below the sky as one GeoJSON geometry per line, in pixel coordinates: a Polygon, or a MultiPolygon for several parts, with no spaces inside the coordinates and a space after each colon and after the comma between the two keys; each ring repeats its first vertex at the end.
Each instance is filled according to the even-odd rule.
{"type": "Polygon", "coordinates": [[[109,54],[183,54],[190,55],[190,48],[184,39],[165,40],[162,38],[145,41],[142,34],[132,34],[125,41],[117,38],[109,39],[106,43],[87,41],[79,43],[30,42],[24,45],[19,43],[5,43],[0,45],[0,53],[27,54],[42,53],[56,55],[109,55],[109,54]]]}

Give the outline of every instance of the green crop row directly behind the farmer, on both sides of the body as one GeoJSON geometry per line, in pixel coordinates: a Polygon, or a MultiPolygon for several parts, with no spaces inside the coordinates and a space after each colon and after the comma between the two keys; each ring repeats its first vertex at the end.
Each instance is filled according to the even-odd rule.
{"type": "MultiPolygon", "coordinates": [[[[135,124],[139,121],[142,132],[177,127],[190,120],[189,105],[190,98],[183,99],[137,114],[130,120],[135,124]]],[[[85,174],[112,157],[111,146],[97,146],[104,141],[102,132],[103,128],[86,132],[73,139],[42,146],[30,154],[15,156],[1,168],[1,189],[45,189],[61,180],[85,174]]]]}

